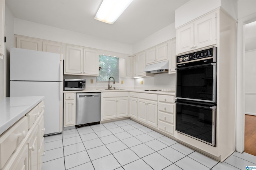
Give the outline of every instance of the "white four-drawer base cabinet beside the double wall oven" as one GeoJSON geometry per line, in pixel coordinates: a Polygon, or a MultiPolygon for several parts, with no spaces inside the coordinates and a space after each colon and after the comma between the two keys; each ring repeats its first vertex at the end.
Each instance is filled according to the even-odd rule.
{"type": "Polygon", "coordinates": [[[174,134],[175,125],[174,95],[158,95],[158,129],[174,134]]]}

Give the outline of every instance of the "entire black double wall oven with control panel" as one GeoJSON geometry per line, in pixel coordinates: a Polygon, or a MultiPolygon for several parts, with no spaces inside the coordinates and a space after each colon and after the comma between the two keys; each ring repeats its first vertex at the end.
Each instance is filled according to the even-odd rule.
{"type": "Polygon", "coordinates": [[[216,146],[216,47],[176,56],[176,131],[216,146]]]}

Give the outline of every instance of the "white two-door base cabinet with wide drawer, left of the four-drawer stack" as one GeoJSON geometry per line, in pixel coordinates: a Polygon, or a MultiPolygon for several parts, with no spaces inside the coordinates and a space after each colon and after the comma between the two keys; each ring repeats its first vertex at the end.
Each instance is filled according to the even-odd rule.
{"type": "Polygon", "coordinates": [[[158,95],[138,93],[138,120],[157,127],[158,95]]]}

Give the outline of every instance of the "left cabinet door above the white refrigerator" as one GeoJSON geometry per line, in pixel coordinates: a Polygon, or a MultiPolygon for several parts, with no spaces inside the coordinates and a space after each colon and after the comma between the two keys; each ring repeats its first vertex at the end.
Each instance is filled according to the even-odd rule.
{"type": "Polygon", "coordinates": [[[17,37],[17,48],[31,49],[36,51],[42,51],[42,41],[33,38],[17,37]]]}

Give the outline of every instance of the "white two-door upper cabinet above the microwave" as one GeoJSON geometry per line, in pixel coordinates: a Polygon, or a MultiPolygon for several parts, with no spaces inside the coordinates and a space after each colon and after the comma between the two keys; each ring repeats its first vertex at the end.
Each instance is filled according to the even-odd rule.
{"type": "Polygon", "coordinates": [[[64,74],[98,76],[98,51],[66,45],[64,74]]]}

